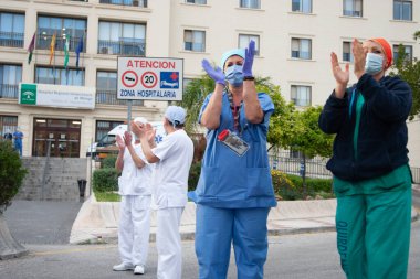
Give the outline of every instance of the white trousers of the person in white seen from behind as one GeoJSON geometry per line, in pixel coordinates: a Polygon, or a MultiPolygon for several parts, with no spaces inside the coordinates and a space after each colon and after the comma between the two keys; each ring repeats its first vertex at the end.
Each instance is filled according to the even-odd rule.
{"type": "Polygon", "coordinates": [[[158,279],[181,279],[182,249],[179,225],[182,211],[183,207],[168,207],[157,211],[158,279]]]}

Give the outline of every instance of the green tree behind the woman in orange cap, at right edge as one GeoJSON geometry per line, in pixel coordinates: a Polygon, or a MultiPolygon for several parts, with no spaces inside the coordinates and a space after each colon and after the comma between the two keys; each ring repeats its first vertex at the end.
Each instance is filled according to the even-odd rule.
{"type": "MultiPolygon", "coordinates": [[[[414,37],[420,39],[420,31],[416,32],[414,37]]],[[[420,112],[420,61],[417,57],[412,60],[405,52],[402,45],[398,49],[398,57],[390,75],[399,75],[406,81],[412,90],[412,107],[410,111],[410,120],[420,112]]]]}

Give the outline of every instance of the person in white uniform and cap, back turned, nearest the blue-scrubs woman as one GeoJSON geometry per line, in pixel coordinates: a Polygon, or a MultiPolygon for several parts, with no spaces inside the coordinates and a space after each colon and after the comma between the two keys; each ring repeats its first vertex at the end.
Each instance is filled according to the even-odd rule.
{"type": "Polygon", "coordinates": [[[150,125],[133,124],[149,163],[156,163],[153,174],[153,206],[157,210],[156,246],[158,279],[181,279],[182,251],[179,225],[187,204],[188,174],[192,163],[193,143],[183,130],[186,110],[169,106],[165,112],[164,141],[156,148],[148,142],[150,125]]]}

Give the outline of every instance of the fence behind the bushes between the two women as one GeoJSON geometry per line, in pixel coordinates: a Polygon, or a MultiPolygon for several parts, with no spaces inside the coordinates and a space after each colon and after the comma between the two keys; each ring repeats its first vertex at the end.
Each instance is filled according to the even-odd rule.
{"type": "MultiPolygon", "coordinates": [[[[288,151],[281,151],[276,154],[271,154],[269,157],[270,165],[273,170],[279,170],[284,173],[300,175],[301,164],[303,158],[301,154],[296,154],[288,151]]],[[[328,171],[325,165],[328,159],[324,158],[313,158],[306,159],[306,173],[308,178],[322,178],[330,179],[333,174],[328,171]]],[[[411,167],[412,181],[416,184],[420,184],[420,168],[411,167]]]]}

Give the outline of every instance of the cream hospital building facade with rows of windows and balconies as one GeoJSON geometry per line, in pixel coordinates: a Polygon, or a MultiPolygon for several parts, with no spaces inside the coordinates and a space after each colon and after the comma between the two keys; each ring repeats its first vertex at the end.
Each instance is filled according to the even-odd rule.
{"type": "MultiPolygon", "coordinates": [[[[297,106],[323,105],[334,87],[330,52],[351,65],[354,39],[384,36],[396,52],[402,44],[420,57],[412,36],[419,11],[420,2],[409,0],[1,0],[0,133],[19,126],[27,157],[84,157],[127,118],[126,103],[116,98],[118,55],[183,58],[187,84],[203,74],[202,58],[218,64],[224,51],[250,40],[255,75],[271,77],[297,106]],[[20,104],[20,83],[78,86],[94,101],[87,108],[20,104]]],[[[133,115],[160,120],[167,104],[135,100],[133,115]]],[[[411,160],[420,167],[419,158],[411,160]]]]}

